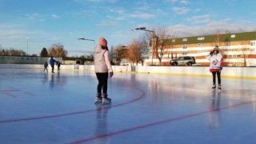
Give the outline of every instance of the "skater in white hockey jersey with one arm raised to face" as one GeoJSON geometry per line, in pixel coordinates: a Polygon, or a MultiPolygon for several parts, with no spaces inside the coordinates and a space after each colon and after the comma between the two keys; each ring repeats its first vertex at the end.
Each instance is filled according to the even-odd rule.
{"type": "Polygon", "coordinates": [[[210,72],[213,75],[212,89],[216,89],[216,74],[218,77],[218,90],[222,90],[221,72],[223,67],[223,57],[219,53],[218,46],[214,47],[214,50],[207,55],[207,59],[210,61],[210,72]]]}

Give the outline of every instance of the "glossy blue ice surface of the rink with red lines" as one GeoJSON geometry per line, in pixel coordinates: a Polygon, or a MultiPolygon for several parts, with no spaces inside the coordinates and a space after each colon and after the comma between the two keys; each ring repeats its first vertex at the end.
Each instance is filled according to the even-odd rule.
{"type": "Polygon", "coordinates": [[[0,69],[0,143],[256,143],[256,81],[114,73],[95,105],[94,72],[0,69]]]}

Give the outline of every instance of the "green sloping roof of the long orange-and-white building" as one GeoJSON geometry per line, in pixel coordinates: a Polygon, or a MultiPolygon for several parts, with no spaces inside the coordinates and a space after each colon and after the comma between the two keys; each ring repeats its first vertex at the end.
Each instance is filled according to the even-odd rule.
{"type": "MultiPolygon", "coordinates": [[[[234,33],[234,34],[219,34],[222,42],[234,42],[234,41],[251,41],[256,40],[256,31],[234,33]]],[[[185,38],[170,38],[165,39],[167,45],[181,45],[181,44],[192,44],[192,43],[209,43],[215,42],[217,34],[214,35],[202,35],[195,37],[185,38]]]]}

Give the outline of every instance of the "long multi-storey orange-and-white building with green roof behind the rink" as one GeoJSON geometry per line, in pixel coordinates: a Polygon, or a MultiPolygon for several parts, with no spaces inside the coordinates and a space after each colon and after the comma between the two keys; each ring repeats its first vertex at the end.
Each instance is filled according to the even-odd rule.
{"type": "MultiPolygon", "coordinates": [[[[256,31],[235,34],[202,35],[187,38],[154,38],[154,50],[162,55],[161,65],[170,66],[170,60],[180,56],[194,56],[197,64],[209,66],[206,55],[218,46],[224,56],[224,66],[256,66],[256,31]],[[161,44],[164,43],[162,46],[161,44]],[[157,47],[156,47],[157,46],[157,47]]],[[[153,50],[153,51],[154,51],[153,50]]],[[[156,52],[152,51],[146,66],[159,65],[156,52]]]]}

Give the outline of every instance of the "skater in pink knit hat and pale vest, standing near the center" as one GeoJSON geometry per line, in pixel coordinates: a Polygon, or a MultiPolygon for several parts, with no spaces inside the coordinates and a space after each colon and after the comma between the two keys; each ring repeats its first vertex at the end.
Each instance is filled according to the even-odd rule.
{"type": "Polygon", "coordinates": [[[95,103],[110,103],[111,98],[107,95],[108,71],[110,78],[114,75],[109,58],[109,50],[105,38],[99,38],[98,46],[94,50],[94,71],[98,79],[97,95],[95,103]],[[102,94],[103,92],[103,94],[102,94]]]}

